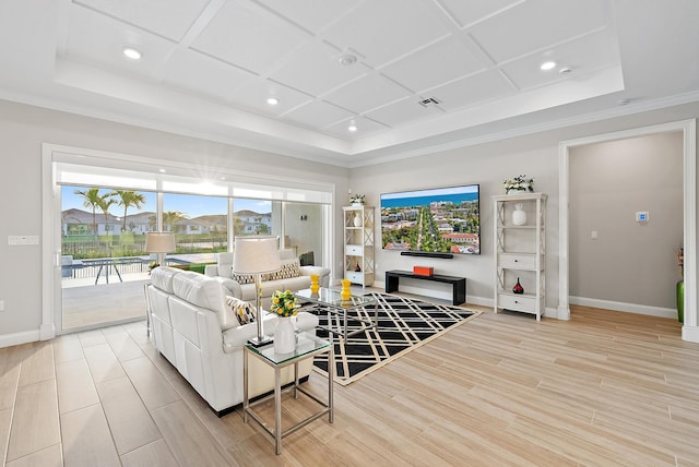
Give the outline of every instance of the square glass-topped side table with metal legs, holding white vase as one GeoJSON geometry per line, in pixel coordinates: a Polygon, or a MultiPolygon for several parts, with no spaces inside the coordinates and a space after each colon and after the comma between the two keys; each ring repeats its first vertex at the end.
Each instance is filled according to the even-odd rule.
{"type": "Polygon", "coordinates": [[[299,428],[303,428],[311,421],[328,414],[328,421],[333,421],[332,409],[332,382],[334,375],[334,366],[328,364],[328,400],[322,400],[313,394],[307,392],[301,385],[298,384],[298,363],[307,358],[313,358],[320,354],[328,354],[328,361],[334,361],[333,345],[328,340],[317,337],[312,333],[299,333],[298,343],[294,351],[288,354],[276,354],[274,351],[274,344],[270,344],[263,347],[253,347],[250,344],[246,344],[242,351],[242,420],[247,423],[248,416],[252,417],[254,421],[260,423],[260,427],[264,429],[272,438],[274,438],[274,448],[276,454],[282,452],[282,439],[286,435],[295,432],[299,428]],[[248,395],[248,358],[253,357],[262,360],[274,369],[274,394],[263,397],[254,403],[250,404],[248,395]],[[321,410],[298,421],[287,430],[282,431],[282,369],[284,367],[294,366],[294,383],[284,391],[293,391],[294,398],[298,398],[298,392],[300,391],[312,400],[321,406],[321,410]],[[258,404],[261,404],[271,397],[274,397],[274,431],[270,430],[264,421],[258,414],[252,410],[258,404]]]}

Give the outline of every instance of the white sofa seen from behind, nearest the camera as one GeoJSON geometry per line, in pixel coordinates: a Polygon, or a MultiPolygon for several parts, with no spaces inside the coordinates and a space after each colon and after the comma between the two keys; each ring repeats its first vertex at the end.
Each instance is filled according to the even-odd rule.
{"type": "MultiPolygon", "coordinates": [[[[230,282],[161,266],[146,286],[155,347],[220,417],[242,403],[242,346],[257,335],[257,323],[239,325],[225,306],[230,282]]],[[[276,318],[264,315],[263,331],[271,335],[276,318]]],[[[315,333],[317,325],[317,316],[298,313],[298,330],[315,333]]],[[[249,362],[250,396],[273,391],[273,370],[254,358],[249,362]]],[[[311,369],[311,360],[299,363],[299,376],[311,369]]],[[[283,383],[292,382],[293,367],[284,370],[283,383]]]]}

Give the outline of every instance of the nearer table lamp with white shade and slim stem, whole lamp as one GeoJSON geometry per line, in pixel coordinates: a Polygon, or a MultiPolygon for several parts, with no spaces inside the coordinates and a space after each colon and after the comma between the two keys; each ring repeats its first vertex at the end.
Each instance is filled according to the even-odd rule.
{"type": "Polygon", "coordinates": [[[263,273],[271,273],[282,267],[276,237],[236,237],[233,250],[233,272],[236,274],[254,274],[256,321],[258,335],[248,340],[254,347],[272,342],[262,335],[262,290],[263,273]]]}

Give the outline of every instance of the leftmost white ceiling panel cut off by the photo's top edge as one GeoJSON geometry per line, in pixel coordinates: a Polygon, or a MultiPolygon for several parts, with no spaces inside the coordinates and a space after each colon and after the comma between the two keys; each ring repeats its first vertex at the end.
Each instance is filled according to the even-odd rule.
{"type": "Polygon", "coordinates": [[[126,24],[180,40],[209,0],[73,0],[126,24]]]}

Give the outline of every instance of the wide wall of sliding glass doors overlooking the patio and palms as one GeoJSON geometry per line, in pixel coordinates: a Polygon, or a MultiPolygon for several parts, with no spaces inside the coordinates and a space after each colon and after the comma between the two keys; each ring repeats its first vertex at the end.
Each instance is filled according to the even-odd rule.
{"type": "Polygon", "coordinates": [[[60,217],[45,230],[61,253],[61,274],[56,266],[45,271],[56,280],[49,294],[61,310],[58,330],[144,318],[143,284],[154,263],[145,252],[150,231],[174,232],[177,250],[166,264],[197,272],[216,252],[230,251],[235,236],[247,235],[276,236],[280,248],[297,255],[312,250],[315,263],[329,266],[332,185],[217,169],[206,177],[183,163],[163,167],[54,145],[45,145],[45,155],[51,161],[45,175],[60,200],[52,205],[60,217]]]}

